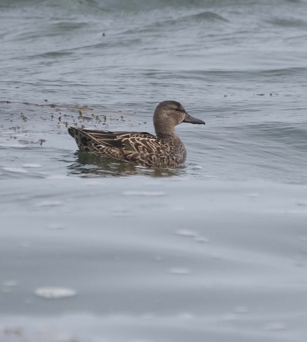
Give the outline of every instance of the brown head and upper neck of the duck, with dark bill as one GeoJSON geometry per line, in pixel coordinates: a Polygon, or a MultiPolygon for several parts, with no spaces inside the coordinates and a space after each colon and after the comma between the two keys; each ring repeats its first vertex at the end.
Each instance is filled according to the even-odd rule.
{"type": "Polygon", "coordinates": [[[157,134],[174,134],[175,126],[182,122],[205,124],[204,121],[190,116],[183,105],[176,101],[160,102],[153,114],[153,124],[157,134]]]}

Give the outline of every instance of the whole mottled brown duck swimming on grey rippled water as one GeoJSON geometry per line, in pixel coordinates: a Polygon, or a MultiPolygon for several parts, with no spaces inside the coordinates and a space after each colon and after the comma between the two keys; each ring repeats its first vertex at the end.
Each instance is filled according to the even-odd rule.
{"type": "Polygon", "coordinates": [[[154,168],[169,168],[182,164],[187,152],[175,133],[175,126],[182,122],[205,124],[191,117],[184,107],[175,101],[163,101],[153,114],[156,134],[143,132],[109,132],[68,128],[80,151],[101,157],[112,157],[131,164],[154,168]]]}

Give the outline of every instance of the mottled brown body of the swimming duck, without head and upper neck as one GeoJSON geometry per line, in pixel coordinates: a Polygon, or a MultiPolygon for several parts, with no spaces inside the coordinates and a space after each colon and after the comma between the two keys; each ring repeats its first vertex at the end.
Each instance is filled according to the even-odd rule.
{"type": "Polygon", "coordinates": [[[146,132],[80,130],[74,127],[70,127],[68,133],[76,140],[80,151],[132,164],[168,168],[184,163],[186,159],[186,149],[177,136],[164,140],[146,132]]]}

